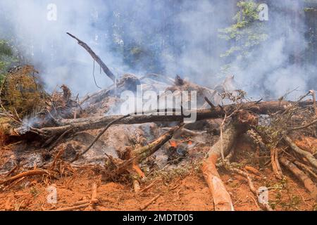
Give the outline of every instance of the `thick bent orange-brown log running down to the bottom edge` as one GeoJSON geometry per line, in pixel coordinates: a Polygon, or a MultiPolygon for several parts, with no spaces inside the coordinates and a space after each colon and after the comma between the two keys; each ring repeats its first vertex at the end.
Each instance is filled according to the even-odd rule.
{"type": "Polygon", "coordinates": [[[225,185],[223,184],[223,181],[221,181],[220,175],[216,169],[216,162],[218,158],[221,157],[222,146],[223,154],[228,155],[238,135],[239,131],[237,127],[231,124],[223,133],[223,145],[220,140],[213,145],[209,151],[209,157],[202,166],[202,172],[206,183],[209,186],[211,195],[213,195],[213,203],[216,211],[234,210],[230,194],[226,191],[225,185]]]}

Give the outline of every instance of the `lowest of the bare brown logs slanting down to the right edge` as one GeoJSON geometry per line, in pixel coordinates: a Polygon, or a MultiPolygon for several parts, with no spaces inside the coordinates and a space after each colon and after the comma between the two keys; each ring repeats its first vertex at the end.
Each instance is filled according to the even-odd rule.
{"type": "Polygon", "coordinates": [[[292,172],[302,183],[304,184],[305,188],[311,193],[311,196],[313,197],[314,200],[317,200],[317,188],[316,185],[311,181],[309,176],[304,174],[302,170],[298,169],[296,165],[294,165],[292,162],[287,160],[287,158],[281,157],[280,162],[282,163],[283,166],[285,166],[287,169],[292,172]]]}

